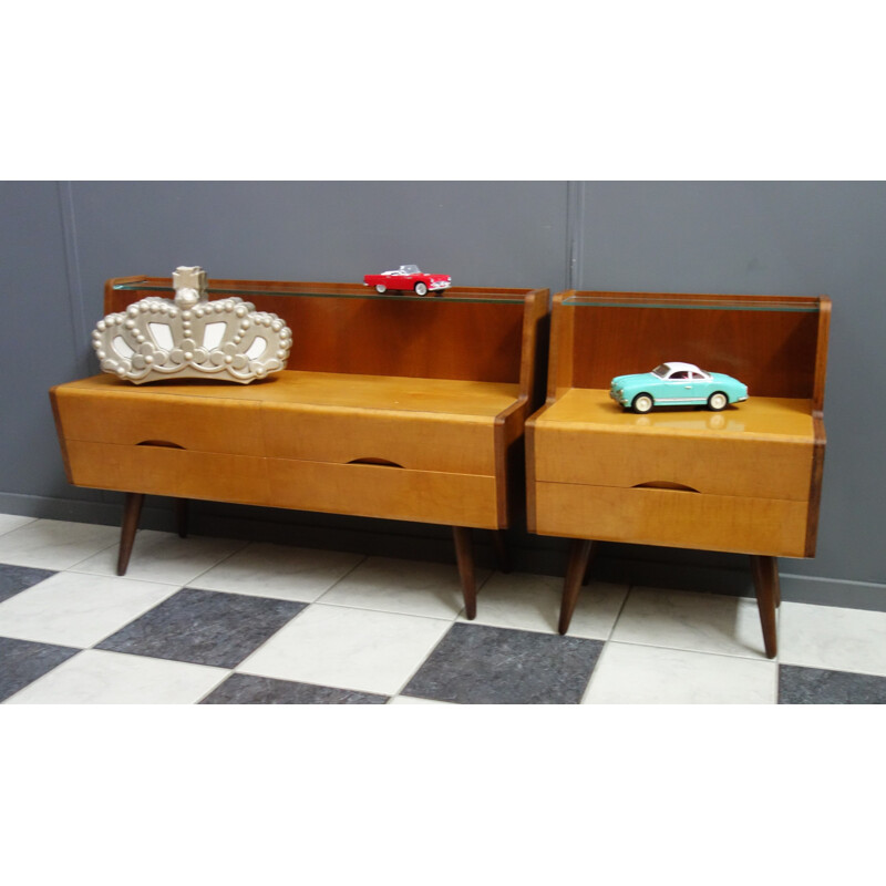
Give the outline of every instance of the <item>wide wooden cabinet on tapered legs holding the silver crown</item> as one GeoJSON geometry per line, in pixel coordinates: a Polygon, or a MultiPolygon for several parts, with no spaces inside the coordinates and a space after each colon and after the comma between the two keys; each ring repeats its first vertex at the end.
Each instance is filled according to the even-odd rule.
{"type": "MultiPolygon", "coordinates": [[[[168,278],[105,287],[105,313],[168,278]]],[[[547,290],[424,298],[351,284],[213,280],[292,330],[287,370],[248,385],[109,375],[50,392],[69,481],[127,493],[119,573],[145,494],[451,525],[468,618],[471,529],[522,499],[523,426],[537,408],[547,290]]],[[[97,319],[97,318],[96,318],[97,319]]],[[[184,532],[184,528],[182,528],[184,532]]]]}

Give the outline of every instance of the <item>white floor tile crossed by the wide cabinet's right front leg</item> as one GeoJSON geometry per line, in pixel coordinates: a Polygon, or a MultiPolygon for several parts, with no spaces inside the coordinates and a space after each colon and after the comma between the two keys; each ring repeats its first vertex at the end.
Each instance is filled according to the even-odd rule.
{"type": "MultiPolygon", "coordinates": [[[[477,587],[488,570],[476,574],[477,587]]],[[[464,608],[455,564],[370,557],[323,594],[321,602],[382,612],[454,619],[464,608]]]]}

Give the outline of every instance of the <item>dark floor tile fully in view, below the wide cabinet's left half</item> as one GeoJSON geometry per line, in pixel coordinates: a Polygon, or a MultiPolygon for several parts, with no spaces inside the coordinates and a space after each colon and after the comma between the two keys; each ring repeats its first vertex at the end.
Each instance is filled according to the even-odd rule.
{"type": "Polygon", "coordinates": [[[234,668],[305,606],[183,588],[95,648],[234,668]]]}

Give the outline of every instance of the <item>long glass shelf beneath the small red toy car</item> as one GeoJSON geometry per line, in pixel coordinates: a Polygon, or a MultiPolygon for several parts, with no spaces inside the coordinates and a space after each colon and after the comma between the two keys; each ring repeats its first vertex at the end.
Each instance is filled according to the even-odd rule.
{"type": "MultiPolygon", "coordinates": [[[[530,289],[462,289],[444,290],[449,295],[416,296],[413,292],[401,290],[389,290],[380,293],[370,287],[363,289],[359,284],[340,284],[344,291],[313,292],[300,290],[298,288],[287,288],[286,285],[267,287],[220,287],[212,286],[207,288],[209,297],[224,298],[225,296],[291,296],[301,298],[362,298],[379,301],[425,301],[439,302],[473,302],[478,305],[523,305],[526,296],[533,291],[530,289]],[[346,289],[347,287],[347,289],[346,289]],[[501,295],[498,295],[501,292],[501,295]]],[[[114,284],[114,289],[120,291],[156,292],[165,298],[174,299],[175,290],[171,285],[132,280],[125,284],[114,284]]]]}

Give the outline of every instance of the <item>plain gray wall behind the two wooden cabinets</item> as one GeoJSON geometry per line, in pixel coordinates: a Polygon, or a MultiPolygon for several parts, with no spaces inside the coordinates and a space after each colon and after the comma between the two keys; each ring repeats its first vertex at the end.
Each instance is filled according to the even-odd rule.
{"type": "MultiPolygon", "coordinates": [[[[89,334],[109,277],[198,264],[210,278],[359,280],[418,261],[459,285],[824,292],[834,311],[818,554],[782,563],[785,596],[886,608],[886,184],[16,182],[0,184],[0,511],[119,518],[119,496],[66,484],[47,399],[51,384],[96,370],[89,334]]],[[[148,523],[166,525],[164,507],[155,503],[148,523]]],[[[260,519],[256,532],[267,534],[269,522],[287,519],[203,513],[207,528],[235,533],[260,519]]],[[[432,527],[291,519],[305,524],[302,542],[396,548],[391,538],[411,534],[444,556],[432,527]]],[[[512,535],[518,563],[563,568],[562,544],[512,535]]],[[[609,554],[662,584],[659,566],[643,573],[642,564],[663,562],[683,583],[694,569],[712,589],[731,587],[710,578],[718,569],[743,569],[684,552],[609,554]]]]}

